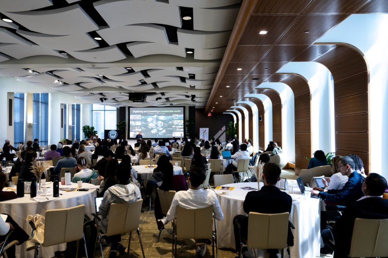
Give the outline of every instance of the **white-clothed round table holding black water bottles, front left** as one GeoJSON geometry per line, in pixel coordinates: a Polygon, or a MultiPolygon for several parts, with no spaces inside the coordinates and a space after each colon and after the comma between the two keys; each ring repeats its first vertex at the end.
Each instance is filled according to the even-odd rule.
{"type": "MultiPolygon", "coordinates": [[[[45,186],[42,186],[45,187],[45,186]]],[[[52,197],[52,183],[46,183],[46,187],[49,187],[49,194],[52,197]]],[[[72,183],[71,185],[61,185],[59,188],[78,188],[77,183],[72,183]]],[[[36,202],[30,199],[30,194],[24,194],[22,198],[16,198],[13,200],[0,202],[0,213],[6,213],[11,215],[15,222],[21,226],[27,234],[31,235],[31,226],[26,221],[27,215],[41,214],[45,215],[46,210],[70,208],[77,205],[85,205],[85,213],[91,217],[91,214],[95,212],[95,201],[94,198],[97,196],[96,189],[98,186],[82,183],[82,188],[87,188],[87,192],[65,192],[59,191],[59,198],[47,202],[36,202]],[[62,195],[61,195],[62,194],[62,195]]],[[[37,197],[39,194],[37,194],[37,197]]],[[[48,247],[41,247],[39,250],[40,257],[54,257],[54,252],[56,251],[65,251],[66,243],[59,245],[52,245],[48,247]]],[[[27,252],[25,244],[16,245],[16,257],[33,257],[33,251],[27,252]]]]}

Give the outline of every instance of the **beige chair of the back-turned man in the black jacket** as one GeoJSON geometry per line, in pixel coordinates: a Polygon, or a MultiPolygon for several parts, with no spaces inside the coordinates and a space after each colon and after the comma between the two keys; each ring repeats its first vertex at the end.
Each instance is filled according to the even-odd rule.
{"type": "MultiPolygon", "coordinates": [[[[284,257],[284,248],[287,245],[287,236],[289,228],[289,212],[264,214],[258,212],[249,212],[248,215],[248,239],[247,243],[241,241],[240,234],[240,250],[243,247],[253,248],[255,257],[255,249],[281,249],[281,257],[284,257]]],[[[237,222],[240,233],[240,224],[237,222]]],[[[239,257],[242,258],[240,251],[239,257]]]]}

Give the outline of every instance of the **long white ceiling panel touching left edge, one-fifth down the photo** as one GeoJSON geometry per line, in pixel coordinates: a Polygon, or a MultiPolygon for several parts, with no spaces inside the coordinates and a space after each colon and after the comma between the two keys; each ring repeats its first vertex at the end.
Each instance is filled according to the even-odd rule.
{"type": "Polygon", "coordinates": [[[0,44],[0,52],[12,56],[16,59],[22,59],[29,56],[59,56],[67,58],[67,56],[61,55],[58,51],[49,48],[44,48],[38,45],[24,45],[24,44],[0,44]]]}

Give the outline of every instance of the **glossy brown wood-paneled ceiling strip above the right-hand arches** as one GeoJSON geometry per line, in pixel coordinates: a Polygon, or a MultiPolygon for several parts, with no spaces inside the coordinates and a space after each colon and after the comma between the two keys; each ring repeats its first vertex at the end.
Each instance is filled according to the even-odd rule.
{"type": "MultiPolygon", "coordinates": [[[[262,90],[255,90],[260,83],[287,81],[288,75],[275,72],[288,62],[335,56],[335,45],[314,42],[351,14],[383,12],[388,12],[386,0],[242,1],[205,111],[215,107],[215,113],[223,113],[235,102],[246,100],[246,94],[260,93],[262,90]],[[259,31],[268,33],[260,35],[259,31]]],[[[354,58],[352,55],[349,51],[346,58],[354,58]]]]}

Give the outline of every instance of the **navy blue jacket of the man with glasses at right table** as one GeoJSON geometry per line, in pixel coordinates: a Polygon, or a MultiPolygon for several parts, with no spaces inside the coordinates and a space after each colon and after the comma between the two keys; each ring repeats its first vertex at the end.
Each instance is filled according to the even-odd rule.
{"type": "Polygon", "coordinates": [[[339,205],[347,205],[364,196],[362,193],[362,183],[364,177],[357,171],[350,174],[348,181],[341,190],[329,190],[327,193],[319,193],[319,196],[329,202],[334,202],[339,205]]]}

